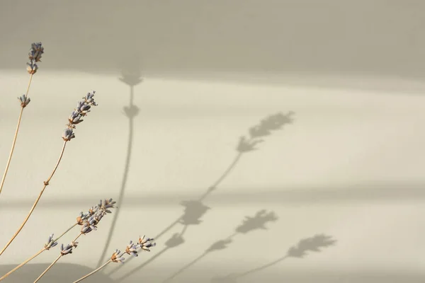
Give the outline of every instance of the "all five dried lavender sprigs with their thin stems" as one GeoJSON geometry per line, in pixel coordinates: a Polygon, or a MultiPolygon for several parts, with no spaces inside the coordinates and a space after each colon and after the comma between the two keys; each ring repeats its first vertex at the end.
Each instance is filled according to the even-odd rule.
{"type": "MultiPolygon", "coordinates": [[[[27,63],[27,65],[28,65],[27,71],[28,71],[28,74],[30,74],[30,79],[29,79],[29,82],[28,82],[28,87],[27,87],[26,93],[23,94],[21,97],[18,97],[18,100],[21,103],[21,112],[20,112],[19,117],[18,117],[18,125],[16,127],[16,132],[15,132],[15,136],[13,138],[11,151],[10,151],[10,154],[8,156],[8,161],[6,163],[6,169],[4,171],[3,178],[1,179],[0,194],[1,194],[1,190],[4,187],[6,175],[8,173],[8,168],[9,168],[9,165],[11,163],[11,158],[13,156],[13,150],[15,149],[16,139],[18,137],[18,132],[19,132],[19,126],[21,125],[21,118],[22,118],[22,115],[23,115],[23,109],[26,108],[26,106],[28,106],[28,104],[30,103],[30,98],[28,97],[28,91],[30,89],[30,83],[33,79],[34,74],[36,74],[37,71],[38,71],[38,62],[41,62],[41,57],[42,57],[43,53],[44,53],[44,47],[42,47],[41,42],[36,42],[36,43],[33,43],[31,45],[31,49],[30,49],[30,52],[28,54],[30,62],[27,63]]],[[[92,107],[97,106],[97,103],[94,100],[94,95],[95,95],[95,91],[87,93],[86,96],[84,96],[83,99],[80,100],[77,103],[77,108],[75,108],[74,111],[72,111],[71,115],[69,115],[68,123],[66,125],[66,128],[64,129],[63,134],[62,134],[62,139],[64,140],[64,144],[62,146],[62,151],[61,151],[60,157],[59,157],[59,159],[58,159],[58,161],[55,165],[55,168],[53,169],[49,178],[47,178],[47,180],[45,180],[43,182],[44,186],[42,187],[40,194],[38,195],[37,199],[35,200],[33,207],[30,209],[30,212],[28,213],[28,215],[26,216],[26,219],[23,221],[23,223],[19,227],[18,231],[16,231],[16,233],[8,241],[6,246],[4,246],[4,248],[0,251],[0,256],[4,253],[4,251],[8,248],[8,246],[13,242],[13,240],[16,238],[16,236],[18,236],[18,233],[21,232],[21,230],[23,229],[23,226],[25,226],[26,222],[30,218],[30,215],[33,213],[35,207],[37,206],[38,201],[40,200],[40,197],[42,196],[42,193],[45,191],[45,188],[47,187],[47,185],[50,185],[49,182],[52,179],[53,175],[55,174],[57,167],[60,164],[60,161],[62,160],[62,156],[64,154],[64,149],[65,149],[67,142],[69,142],[71,139],[75,138],[74,129],[75,129],[76,125],[78,125],[79,123],[84,121],[83,118],[86,117],[86,115],[89,112],[91,112],[92,107]]],[[[71,243],[66,244],[66,245],[64,245],[62,243],[60,245],[60,255],[56,258],[55,261],[52,262],[52,264],[49,267],[47,267],[47,269],[44,272],[42,272],[42,274],[37,279],[35,279],[34,282],[38,282],[41,279],[41,277],[43,275],[45,275],[45,273],[48,270],[50,270],[50,268],[53,265],[55,265],[55,263],[60,258],[62,258],[62,256],[71,254],[72,251],[75,248],[77,248],[77,245],[78,245],[77,239],[81,235],[86,235],[86,234],[90,233],[91,231],[96,231],[97,226],[98,226],[99,222],[101,221],[101,219],[103,218],[103,216],[111,213],[111,209],[113,209],[113,208],[115,208],[115,201],[113,201],[112,199],[109,199],[109,200],[103,200],[103,201],[101,200],[98,204],[96,204],[96,206],[91,207],[89,209],[89,211],[86,212],[86,213],[80,212],[79,216],[77,216],[77,221],[71,227],[69,227],[69,229],[67,229],[67,231],[64,231],[64,233],[62,233],[62,235],[57,237],[57,238],[54,238],[54,234],[51,234],[49,236],[48,240],[47,240],[47,243],[45,243],[44,247],[42,247],[42,249],[39,250],[38,253],[35,253],[35,255],[32,255],[30,258],[28,258],[27,260],[22,262],[20,265],[13,268],[13,270],[6,273],[6,275],[3,275],[2,277],[0,277],[0,281],[3,280],[3,279],[6,279],[6,277],[11,275],[13,272],[15,272],[19,268],[23,267],[23,265],[26,265],[26,263],[30,262],[30,260],[33,260],[35,257],[40,255],[40,253],[44,252],[45,250],[50,250],[51,248],[54,248],[55,246],[57,246],[57,241],[60,238],[62,238],[62,236],[64,236],[66,233],[71,231],[75,226],[81,226],[81,229],[79,231],[78,236],[76,238],[74,238],[74,240],[71,241],[71,243]]],[[[90,272],[88,275],[81,277],[80,279],[78,279],[74,283],[80,282],[80,281],[86,279],[87,277],[93,275],[95,272],[98,272],[98,270],[101,270],[103,267],[108,265],[110,262],[123,263],[124,260],[125,260],[125,258],[123,256],[125,254],[137,257],[137,255],[138,255],[137,251],[138,250],[150,251],[149,248],[152,248],[156,245],[153,241],[154,241],[153,238],[147,238],[145,236],[140,236],[139,240],[136,241],[135,243],[130,241],[130,243],[128,244],[128,246],[126,246],[126,248],[123,252],[121,252],[120,250],[115,250],[115,252],[113,252],[113,254],[111,255],[111,258],[107,262],[105,262],[103,265],[98,267],[93,272],[90,272]]]]}

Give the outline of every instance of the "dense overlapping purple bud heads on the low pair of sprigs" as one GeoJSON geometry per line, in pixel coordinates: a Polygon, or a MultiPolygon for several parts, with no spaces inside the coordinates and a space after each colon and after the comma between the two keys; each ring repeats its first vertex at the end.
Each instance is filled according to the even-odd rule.
{"type": "Polygon", "coordinates": [[[101,221],[103,216],[111,213],[111,208],[115,208],[116,202],[112,199],[100,201],[95,207],[91,207],[89,212],[80,212],[77,216],[77,224],[81,225],[81,233],[90,233],[97,230],[97,224],[101,221]]]}

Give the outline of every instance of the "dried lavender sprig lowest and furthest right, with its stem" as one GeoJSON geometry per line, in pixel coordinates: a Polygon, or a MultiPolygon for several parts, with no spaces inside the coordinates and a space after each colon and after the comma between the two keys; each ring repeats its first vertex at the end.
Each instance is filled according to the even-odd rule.
{"type": "Polygon", "coordinates": [[[149,248],[154,247],[154,246],[157,246],[157,244],[156,243],[152,243],[152,241],[154,241],[153,238],[145,238],[145,236],[139,237],[139,241],[138,241],[137,244],[135,244],[132,241],[130,241],[130,243],[125,248],[125,251],[123,253],[121,253],[120,250],[115,250],[113,252],[113,254],[111,255],[111,258],[107,262],[103,263],[103,265],[99,266],[98,268],[96,268],[96,270],[93,270],[88,275],[84,275],[83,277],[81,277],[80,279],[78,279],[77,281],[74,281],[72,283],[78,283],[78,282],[83,281],[87,277],[89,277],[91,275],[94,275],[96,272],[98,272],[99,270],[101,270],[103,267],[106,267],[106,265],[108,265],[111,262],[123,264],[124,263],[124,260],[125,260],[125,258],[123,257],[123,255],[125,255],[125,254],[133,255],[133,256],[137,257],[137,251],[136,251],[137,248],[142,248],[143,250],[150,251],[149,248]]]}

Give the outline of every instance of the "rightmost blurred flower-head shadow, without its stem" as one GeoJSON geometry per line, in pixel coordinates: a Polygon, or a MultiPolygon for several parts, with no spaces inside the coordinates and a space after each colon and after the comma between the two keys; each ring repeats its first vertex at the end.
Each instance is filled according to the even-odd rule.
{"type": "Polygon", "coordinates": [[[324,234],[315,235],[310,238],[304,238],[297,243],[296,246],[292,246],[287,253],[288,257],[292,258],[303,258],[307,251],[320,252],[320,248],[326,248],[334,246],[336,240],[332,239],[331,236],[324,234]]]}

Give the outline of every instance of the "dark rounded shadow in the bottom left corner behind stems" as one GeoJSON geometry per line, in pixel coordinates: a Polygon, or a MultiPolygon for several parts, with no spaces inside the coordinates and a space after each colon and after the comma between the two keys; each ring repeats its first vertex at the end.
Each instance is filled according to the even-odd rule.
{"type": "MultiPolygon", "coordinates": [[[[17,265],[17,264],[16,264],[17,265]]],[[[0,275],[6,274],[9,270],[12,270],[16,265],[0,265],[0,275]]],[[[12,275],[3,280],[5,283],[27,283],[34,282],[38,276],[50,265],[49,264],[29,264],[22,267],[20,270],[13,272],[12,275]]],[[[57,283],[57,282],[74,282],[75,280],[83,277],[84,275],[92,272],[93,269],[72,263],[60,263],[55,264],[43,277],[40,282],[57,283]]],[[[103,282],[112,283],[114,282],[111,278],[103,275],[101,272],[96,272],[91,277],[84,279],[84,282],[103,282]]]]}

